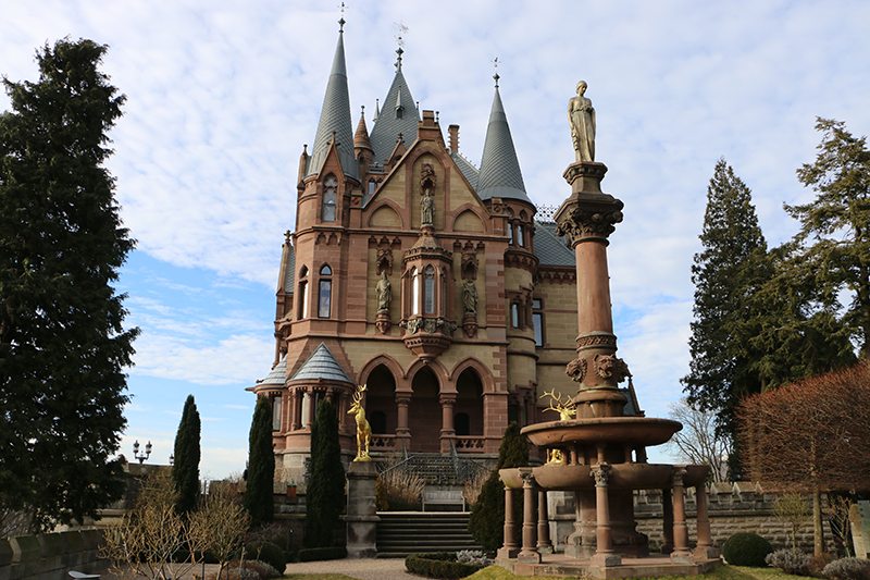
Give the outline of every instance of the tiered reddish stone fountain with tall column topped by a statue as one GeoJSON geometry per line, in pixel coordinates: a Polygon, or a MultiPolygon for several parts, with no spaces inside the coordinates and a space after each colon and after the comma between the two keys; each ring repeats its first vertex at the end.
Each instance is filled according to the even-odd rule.
{"type": "Polygon", "coordinates": [[[566,402],[555,393],[560,420],[525,427],[522,433],[547,451],[540,467],[502,469],[506,490],[505,545],[498,563],[520,575],[588,575],[596,578],[691,575],[719,562],[713,548],[705,480],[708,466],[647,462],[646,448],[668,442],[682,429],[678,421],[625,416],[619,383],[631,373],[617,358],[607,270],[608,237],[622,221],[623,203],[601,192],[607,166],[594,161],[595,110],[584,97],[586,84],[569,102],[576,162],[564,178],[571,196],[556,213],[557,233],[570,236],[577,273],[577,358],[567,373],[579,383],[566,402]],[[697,495],[697,543],[689,545],[685,486],[697,495]],[[512,496],[523,490],[522,544],[515,540],[512,496]],[[646,535],[636,531],[634,490],[662,490],[663,556],[650,557],[646,535]],[[549,555],[546,492],[573,492],[574,532],[563,556],[549,555]],[[535,499],[538,499],[537,516],[535,499]]]}

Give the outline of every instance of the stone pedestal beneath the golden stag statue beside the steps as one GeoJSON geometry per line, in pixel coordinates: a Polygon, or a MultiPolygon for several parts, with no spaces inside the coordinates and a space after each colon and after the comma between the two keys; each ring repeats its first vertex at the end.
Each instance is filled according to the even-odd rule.
{"type": "MultiPolygon", "coordinates": [[[[377,465],[351,461],[347,470],[347,557],[377,556],[377,465]]],[[[338,498],[336,498],[338,501],[338,498]]]]}

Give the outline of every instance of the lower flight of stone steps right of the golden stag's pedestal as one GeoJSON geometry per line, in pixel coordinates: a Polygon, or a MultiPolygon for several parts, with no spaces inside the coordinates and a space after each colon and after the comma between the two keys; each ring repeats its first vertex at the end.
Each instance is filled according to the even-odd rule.
{"type": "Polygon", "coordinates": [[[377,557],[482,550],[468,531],[467,511],[378,511],[377,557]]]}

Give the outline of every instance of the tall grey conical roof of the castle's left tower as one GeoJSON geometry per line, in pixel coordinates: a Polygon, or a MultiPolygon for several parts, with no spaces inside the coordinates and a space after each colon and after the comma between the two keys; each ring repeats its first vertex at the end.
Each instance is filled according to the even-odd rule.
{"type": "Polygon", "coordinates": [[[323,109],[318,123],[318,135],[308,162],[307,175],[320,173],[330,144],[335,133],[338,141],[338,159],[346,175],[359,177],[359,162],[353,157],[353,125],[350,119],[350,95],[347,88],[347,67],[345,66],[344,22],[338,32],[338,44],[335,47],[333,70],[323,97],[323,109]]]}

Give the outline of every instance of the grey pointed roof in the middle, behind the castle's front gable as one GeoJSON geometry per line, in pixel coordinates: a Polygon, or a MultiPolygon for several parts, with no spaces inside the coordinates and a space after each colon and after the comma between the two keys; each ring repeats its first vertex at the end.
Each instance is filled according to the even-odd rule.
{"type": "Polygon", "coordinates": [[[414,98],[401,74],[401,48],[397,50],[399,58],[396,62],[396,76],[389,87],[384,106],[375,111],[375,122],[372,126],[370,140],[374,151],[373,161],[383,163],[396,148],[396,139],[401,134],[401,140],[408,148],[417,139],[417,125],[420,114],[417,110],[414,98]]]}

